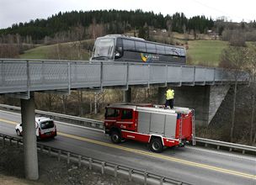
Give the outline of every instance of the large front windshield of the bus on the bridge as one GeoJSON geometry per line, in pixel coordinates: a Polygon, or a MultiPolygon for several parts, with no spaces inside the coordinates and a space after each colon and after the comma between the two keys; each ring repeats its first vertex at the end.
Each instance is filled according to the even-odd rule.
{"type": "Polygon", "coordinates": [[[114,39],[97,39],[93,49],[92,60],[112,60],[114,59],[114,39]]]}

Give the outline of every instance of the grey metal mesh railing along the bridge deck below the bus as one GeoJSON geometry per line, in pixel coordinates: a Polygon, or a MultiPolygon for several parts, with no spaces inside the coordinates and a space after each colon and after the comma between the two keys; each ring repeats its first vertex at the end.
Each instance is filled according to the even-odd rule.
{"type": "Polygon", "coordinates": [[[214,85],[248,82],[244,71],[221,68],[121,61],[47,61],[0,59],[0,94],[77,88],[172,84],[214,85]]]}

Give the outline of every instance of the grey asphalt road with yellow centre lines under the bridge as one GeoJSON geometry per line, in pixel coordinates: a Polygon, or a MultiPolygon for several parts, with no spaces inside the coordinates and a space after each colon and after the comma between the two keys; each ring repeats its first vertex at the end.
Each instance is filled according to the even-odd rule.
{"type": "MultiPolygon", "coordinates": [[[[0,133],[16,136],[14,127],[20,114],[0,110],[0,133]]],[[[55,140],[40,141],[84,156],[115,162],[191,184],[256,185],[256,158],[186,146],[168,148],[161,154],[148,151],[147,145],[126,141],[112,144],[101,130],[56,122],[55,140]]]]}

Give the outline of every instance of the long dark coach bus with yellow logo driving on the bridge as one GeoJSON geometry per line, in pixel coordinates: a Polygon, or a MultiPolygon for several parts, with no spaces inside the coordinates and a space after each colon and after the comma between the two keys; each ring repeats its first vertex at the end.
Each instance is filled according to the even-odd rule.
{"type": "Polygon", "coordinates": [[[186,63],[184,47],[164,45],[121,34],[99,37],[93,47],[91,61],[131,61],[186,63]]]}

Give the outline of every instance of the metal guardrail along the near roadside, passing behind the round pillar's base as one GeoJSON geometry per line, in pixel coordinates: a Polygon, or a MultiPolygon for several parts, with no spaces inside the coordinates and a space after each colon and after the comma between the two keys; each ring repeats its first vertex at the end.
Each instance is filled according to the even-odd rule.
{"type": "MultiPolygon", "coordinates": [[[[13,143],[19,147],[23,145],[23,141],[20,138],[13,137],[10,135],[0,134],[0,139],[2,140],[2,146],[13,145],[13,143]],[[8,140],[8,141],[7,141],[8,140]]],[[[141,171],[128,166],[121,166],[112,162],[102,161],[99,159],[94,159],[92,157],[79,155],[72,151],[65,151],[48,145],[37,144],[37,150],[41,153],[46,153],[49,156],[56,156],[57,161],[64,159],[67,164],[70,162],[77,163],[78,166],[87,166],[89,170],[98,170],[102,174],[108,174],[114,177],[123,177],[129,182],[137,182],[144,185],[189,185],[189,183],[177,181],[169,177],[159,176],[151,172],[141,171]]]]}

